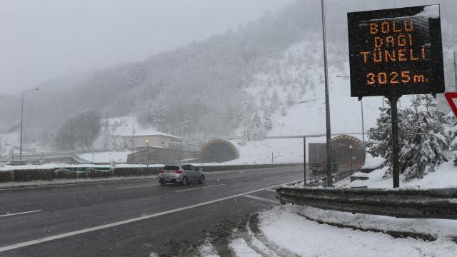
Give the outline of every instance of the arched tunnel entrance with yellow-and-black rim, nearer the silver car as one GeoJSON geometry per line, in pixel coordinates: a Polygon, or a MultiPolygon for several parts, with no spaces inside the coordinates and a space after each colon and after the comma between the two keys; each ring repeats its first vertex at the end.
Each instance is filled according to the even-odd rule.
{"type": "Polygon", "coordinates": [[[199,161],[221,163],[239,158],[239,153],[233,143],[216,139],[205,143],[199,151],[199,161]]]}

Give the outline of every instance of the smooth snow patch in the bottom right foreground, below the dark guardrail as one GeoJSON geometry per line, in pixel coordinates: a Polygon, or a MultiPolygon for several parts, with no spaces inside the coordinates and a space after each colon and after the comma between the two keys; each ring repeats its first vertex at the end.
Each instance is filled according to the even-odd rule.
{"type": "Polygon", "coordinates": [[[426,242],[383,233],[336,228],[309,221],[276,206],[263,211],[259,228],[268,240],[300,256],[456,256],[457,244],[444,238],[426,242]]]}

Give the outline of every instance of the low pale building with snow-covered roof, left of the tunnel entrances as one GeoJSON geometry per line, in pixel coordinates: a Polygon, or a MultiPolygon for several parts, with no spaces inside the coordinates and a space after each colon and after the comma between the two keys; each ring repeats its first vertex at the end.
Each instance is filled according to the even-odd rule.
{"type": "Polygon", "coordinates": [[[134,133],[132,135],[121,136],[122,148],[131,149],[132,142],[134,148],[141,148],[146,146],[146,141],[149,141],[149,146],[179,149],[182,146],[184,138],[179,136],[170,135],[158,131],[145,131],[141,133],[134,133]]]}

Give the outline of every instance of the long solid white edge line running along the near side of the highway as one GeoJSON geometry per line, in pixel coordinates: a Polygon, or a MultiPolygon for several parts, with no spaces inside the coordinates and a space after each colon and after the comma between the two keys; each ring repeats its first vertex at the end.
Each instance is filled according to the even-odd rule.
{"type": "MultiPolygon", "coordinates": [[[[301,180],[298,180],[298,181],[301,181],[301,180]]],[[[293,183],[293,182],[298,182],[298,181],[291,181],[291,182],[286,182],[286,183],[293,183]]],[[[253,191],[248,191],[248,192],[245,192],[245,193],[238,193],[238,194],[233,195],[233,196],[227,196],[227,197],[224,197],[224,198],[219,198],[219,199],[216,199],[216,200],[206,201],[206,202],[203,202],[203,203],[196,203],[196,204],[193,204],[191,206],[175,208],[173,210],[162,211],[162,212],[159,212],[159,213],[154,213],[154,214],[151,214],[151,215],[141,216],[141,217],[138,217],[138,218],[130,218],[130,219],[125,220],[125,221],[118,221],[118,222],[109,223],[109,224],[106,224],[106,225],[94,226],[92,228],[81,229],[79,231],[71,231],[71,232],[68,232],[68,233],[62,233],[62,234],[55,235],[55,236],[47,236],[45,238],[39,238],[39,239],[31,240],[31,241],[25,241],[25,242],[22,242],[22,243],[15,243],[15,244],[10,245],[10,246],[0,247],[0,253],[4,252],[4,251],[9,251],[9,250],[12,250],[12,249],[16,249],[16,248],[21,248],[21,247],[24,247],[24,246],[31,246],[31,245],[34,245],[34,244],[37,244],[37,243],[44,243],[44,242],[47,242],[47,241],[53,241],[53,240],[56,240],[56,239],[66,238],[66,237],[69,237],[69,236],[76,236],[76,235],[79,235],[81,233],[88,233],[88,232],[91,232],[91,231],[97,231],[97,230],[104,229],[104,228],[111,228],[111,227],[114,227],[114,226],[121,226],[121,225],[124,225],[124,224],[127,224],[127,223],[132,223],[132,222],[135,222],[135,221],[142,221],[142,220],[148,219],[148,218],[154,218],[154,217],[163,216],[163,215],[169,214],[169,213],[175,213],[175,212],[178,212],[178,211],[184,211],[184,210],[187,210],[187,209],[190,209],[190,208],[196,208],[196,207],[199,207],[199,206],[205,206],[207,204],[217,203],[219,201],[224,201],[224,200],[229,200],[231,198],[236,198],[238,196],[243,196],[245,194],[256,193],[256,192],[263,191],[263,190],[268,189],[268,188],[283,186],[286,183],[280,183],[280,184],[277,184],[277,185],[274,185],[274,186],[268,186],[268,187],[265,187],[265,188],[260,188],[260,189],[256,189],[256,190],[253,190],[253,191]]]]}

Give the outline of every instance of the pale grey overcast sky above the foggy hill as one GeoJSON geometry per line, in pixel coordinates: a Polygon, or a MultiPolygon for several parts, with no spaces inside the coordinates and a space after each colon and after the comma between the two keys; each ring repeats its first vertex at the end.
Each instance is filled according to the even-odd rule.
{"type": "Polygon", "coordinates": [[[1,0],[0,94],[206,39],[292,0],[1,0]]]}

